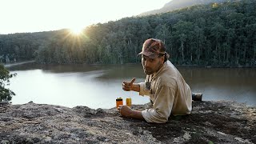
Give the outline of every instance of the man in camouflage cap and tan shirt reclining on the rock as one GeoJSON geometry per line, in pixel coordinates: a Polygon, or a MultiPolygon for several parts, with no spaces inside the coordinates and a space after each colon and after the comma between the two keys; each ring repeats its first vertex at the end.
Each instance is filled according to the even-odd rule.
{"type": "Polygon", "coordinates": [[[182,78],[175,66],[168,61],[164,43],[159,39],[147,39],[142,47],[142,66],[146,74],[145,82],[123,82],[122,89],[137,91],[140,95],[150,96],[153,107],[149,110],[131,110],[119,106],[123,117],[139,118],[146,122],[164,123],[170,114],[185,115],[192,110],[190,86],[182,78]]]}

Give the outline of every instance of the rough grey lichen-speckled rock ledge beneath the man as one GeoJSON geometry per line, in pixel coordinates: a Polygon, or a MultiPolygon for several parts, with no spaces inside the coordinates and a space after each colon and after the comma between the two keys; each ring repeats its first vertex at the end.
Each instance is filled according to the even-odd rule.
{"type": "Polygon", "coordinates": [[[122,118],[116,108],[6,105],[0,107],[0,143],[256,143],[256,108],[193,102],[192,114],[154,124],[122,118]]]}

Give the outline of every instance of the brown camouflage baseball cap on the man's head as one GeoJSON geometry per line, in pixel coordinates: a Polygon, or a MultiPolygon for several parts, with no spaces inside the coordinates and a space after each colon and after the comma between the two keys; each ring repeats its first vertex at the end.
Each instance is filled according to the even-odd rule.
{"type": "Polygon", "coordinates": [[[166,54],[166,47],[160,39],[147,39],[139,54],[146,55],[149,58],[158,58],[160,55],[166,54]]]}

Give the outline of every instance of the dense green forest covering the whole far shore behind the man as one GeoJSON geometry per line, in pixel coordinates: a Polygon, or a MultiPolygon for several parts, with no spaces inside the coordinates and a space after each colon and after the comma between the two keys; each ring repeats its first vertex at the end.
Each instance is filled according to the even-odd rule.
{"type": "Polygon", "coordinates": [[[211,3],[69,30],[0,35],[0,60],[41,63],[140,62],[147,38],[166,44],[179,66],[256,66],[256,2],[211,3]]]}

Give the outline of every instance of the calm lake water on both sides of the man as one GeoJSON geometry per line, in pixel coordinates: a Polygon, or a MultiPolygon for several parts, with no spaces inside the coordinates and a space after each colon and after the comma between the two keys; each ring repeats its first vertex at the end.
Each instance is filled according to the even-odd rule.
{"type": "MultiPolygon", "coordinates": [[[[143,82],[145,75],[138,65],[35,65],[8,68],[17,76],[10,80],[16,96],[14,104],[33,101],[61,106],[112,108],[117,97],[131,97],[134,104],[149,102],[136,92],[122,90],[122,81],[143,82]]],[[[178,68],[202,100],[230,100],[256,106],[256,69],[178,68]]],[[[125,102],[125,101],[124,101],[125,102]]]]}

